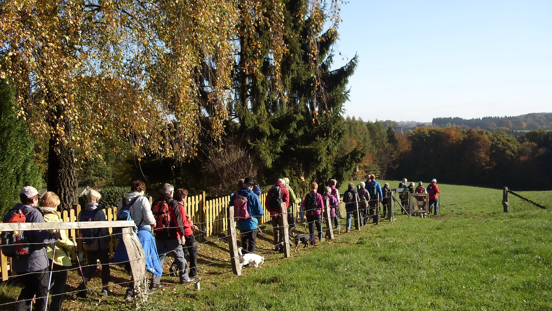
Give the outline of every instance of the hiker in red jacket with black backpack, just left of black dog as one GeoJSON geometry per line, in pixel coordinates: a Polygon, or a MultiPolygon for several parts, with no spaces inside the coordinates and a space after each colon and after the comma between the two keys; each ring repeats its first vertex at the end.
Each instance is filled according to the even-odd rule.
{"type": "Polygon", "coordinates": [[[270,217],[272,217],[274,250],[280,253],[284,252],[284,227],[282,226],[282,216],[288,217],[289,207],[289,190],[285,188],[284,185],[285,180],[278,179],[274,186],[268,191],[267,199],[264,201],[264,206],[270,212],[270,217]],[[281,202],[285,203],[285,215],[282,214],[279,208],[281,202]]]}

